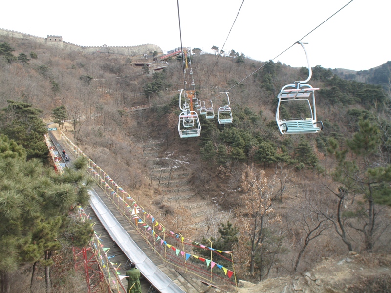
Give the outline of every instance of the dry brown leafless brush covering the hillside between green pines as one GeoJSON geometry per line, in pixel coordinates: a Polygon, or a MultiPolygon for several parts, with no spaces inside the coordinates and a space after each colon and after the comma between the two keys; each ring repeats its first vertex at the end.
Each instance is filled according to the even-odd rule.
{"type": "MultiPolygon", "coordinates": [[[[217,238],[219,223],[227,220],[238,225],[240,236],[234,249],[239,277],[262,280],[304,272],[323,257],[348,252],[335,232],[335,222],[329,221],[330,213],[338,204],[330,192],[330,189],[337,190],[338,184],[331,182],[329,176],[315,169],[297,170],[294,165],[284,163],[253,164],[251,156],[240,162],[228,158],[225,164],[208,164],[199,155],[202,139],[178,138],[177,109],[170,103],[183,83],[180,62],[169,61],[165,88],[147,99],[142,90],[152,81],[152,74],[133,67],[131,60],[123,56],[65,52],[4,37],[0,42],[8,42],[14,47],[15,55],[22,52],[29,55],[31,51],[38,55],[29,64],[0,61],[1,108],[7,105],[8,99],[31,103],[43,109],[43,118],[50,121],[52,109],[65,105],[70,120],[63,129],[65,134],[115,182],[129,190],[155,218],[161,219],[159,222],[187,238],[198,241],[202,237],[217,238]],[[82,78],[85,76],[92,80],[86,82],[82,78]],[[55,90],[54,84],[59,90],[55,90]],[[127,108],[150,102],[154,105],[150,110],[127,112],[127,108]],[[185,179],[175,180],[175,174],[184,173],[185,179]],[[187,191],[181,190],[187,187],[194,193],[190,199],[185,197],[187,191]],[[258,210],[250,212],[255,204],[258,210]],[[199,206],[196,212],[192,205],[199,206]],[[262,221],[263,226],[255,223],[256,220],[262,221]],[[252,245],[248,245],[249,242],[252,245]]],[[[216,56],[193,58],[198,97],[204,100],[210,99],[213,92],[231,87],[264,64],[245,60],[239,65],[232,58],[220,58],[211,73],[216,56]]],[[[251,125],[254,133],[258,131],[279,145],[289,140],[289,147],[294,152],[301,137],[282,137],[277,130],[270,131],[267,125],[274,119],[275,93],[284,84],[297,80],[301,73],[281,64],[276,70],[271,81],[274,92],[260,86],[260,75],[252,76],[231,90],[231,102],[234,108],[249,107],[258,116],[251,125]]],[[[323,83],[314,80],[312,85],[322,87],[323,83]]],[[[217,100],[216,107],[218,103],[222,101],[217,100]]],[[[318,115],[324,121],[333,122],[329,124],[331,129],[325,131],[337,131],[338,137],[342,138],[351,137],[351,128],[357,126],[351,125],[351,117],[346,116],[346,112],[365,107],[357,103],[344,107],[327,103],[320,101],[318,107],[318,115]]],[[[250,123],[240,120],[237,127],[246,129],[250,123]]],[[[216,148],[221,143],[218,131],[213,129],[210,133],[216,148]]],[[[325,153],[316,148],[314,137],[307,140],[319,166],[330,172],[330,164],[331,167],[336,165],[335,159],[326,158],[325,153]]],[[[228,155],[230,151],[232,149],[228,147],[228,155]]],[[[278,151],[282,152],[281,148],[278,151]]],[[[359,200],[344,201],[345,209],[359,200]]],[[[377,217],[373,251],[389,252],[390,209],[382,206],[377,217]]],[[[359,219],[350,224],[354,225],[354,221],[358,223],[359,219]]],[[[365,250],[363,233],[351,226],[345,227],[353,249],[365,250]]]]}

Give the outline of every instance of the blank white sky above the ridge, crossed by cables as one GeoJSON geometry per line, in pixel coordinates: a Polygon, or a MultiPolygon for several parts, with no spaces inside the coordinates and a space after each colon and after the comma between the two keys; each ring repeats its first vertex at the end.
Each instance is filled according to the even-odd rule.
{"type": "MultiPolygon", "coordinates": [[[[267,61],[349,0],[245,0],[223,48],[267,61]]],[[[242,0],[179,0],[182,44],[222,48],[242,0]]],[[[391,60],[390,0],[353,0],[306,37],[311,66],[365,70],[391,60]]],[[[1,4],[0,27],[82,46],[180,47],[176,0],[22,0],[1,4]]],[[[275,61],[306,66],[300,45],[275,61]]]]}

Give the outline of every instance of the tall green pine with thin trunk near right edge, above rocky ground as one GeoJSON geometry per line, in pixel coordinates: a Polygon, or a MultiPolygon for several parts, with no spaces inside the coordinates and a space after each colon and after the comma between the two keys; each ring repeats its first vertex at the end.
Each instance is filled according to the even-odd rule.
{"type": "Polygon", "coordinates": [[[377,166],[380,161],[381,144],[378,127],[368,120],[360,121],[359,126],[359,131],[347,141],[348,149],[338,150],[336,141],[330,139],[328,152],[338,160],[332,175],[333,179],[341,184],[338,192],[334,192],[339,198],[337,209],[339,226],[336,226],[336,222],[334,226],[349,250],[353,248],[351,242],[347,241],[346,229],[351,228],[362,235],[365,249],[371,252],[380,224],[377,204],[391,204],[391,165],[377,166]],[[348,159],[348,151],[355,154],[356,159],[348,159]],[[340,206],[343,200],[350,198],[356,198],[361,204],[351,205],[344,216],[340,206]],[[365,209],[364,205],[366,205],[365,209]]]}

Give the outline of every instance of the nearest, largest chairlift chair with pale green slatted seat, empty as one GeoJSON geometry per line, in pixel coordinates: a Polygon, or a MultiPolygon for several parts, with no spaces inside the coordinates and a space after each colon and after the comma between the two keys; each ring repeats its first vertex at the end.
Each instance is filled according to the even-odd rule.
{"type": "MultiPolygon", "coordinates": [[[[307,52],[302,42],[298,42],[304,49],[308,63],[308,78],[305,81],[298,81],[287,84],[282,87],[278,94],[278,105],[276,111],[276,122],[281,134],[306,134],[317,133],[323,129],[322,121],[316,119],[315,91],[319,88],[313,88],[306,84],[312,76],[311,66],[309,65],[307,52]],[[292,119],[280,118],[282,103],[291,101],[293,103],[304,103],[309,109],[310,117],[299,117],[292,119]]],[[[286,103],[287,104],[287,103],[286,103]]]]}

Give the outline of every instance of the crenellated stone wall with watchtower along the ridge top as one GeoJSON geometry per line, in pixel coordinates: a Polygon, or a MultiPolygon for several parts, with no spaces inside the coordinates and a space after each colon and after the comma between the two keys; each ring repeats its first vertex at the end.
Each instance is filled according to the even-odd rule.
{"type": "Polygon", "coordinates": [[[34,40],[37,42],[42,42],[46,45],[61,48],[67,51],[82,51],[85,53],[112,53],[112,54],[121,54],[127,56],[140,56],[144,54],[151,55],[154,51],[157,51],[159,54],[163,53],[162,49],[153,44],[143,44],[138,46],[99,46],[99,47],[88,47],[72,44],[70,42],[64,42],[62,36],[51,36],[47,35],[46,38],[33,36],[30,34],[24,34],[21,32],[16,32],[13,30],[0,28],[0,35],[25,39],[25,40],[34,40]]]}

